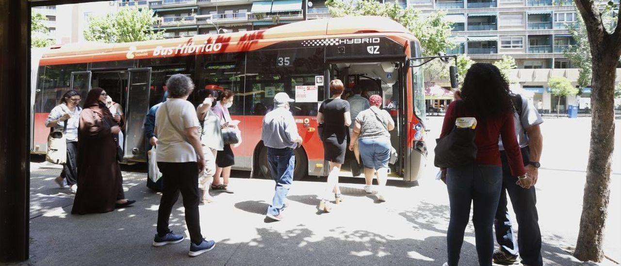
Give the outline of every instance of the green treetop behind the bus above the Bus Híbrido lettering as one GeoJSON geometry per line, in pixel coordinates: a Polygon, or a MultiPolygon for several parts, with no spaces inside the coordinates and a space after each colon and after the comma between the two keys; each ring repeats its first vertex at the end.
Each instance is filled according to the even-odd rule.
{"type": "Polygon", "coordinates": [[[107,43],[163,39],[163,30],[153,30],[159,21],[147,7],[122,8],[116,14],[91,17],[84,39],[107,43]]]}

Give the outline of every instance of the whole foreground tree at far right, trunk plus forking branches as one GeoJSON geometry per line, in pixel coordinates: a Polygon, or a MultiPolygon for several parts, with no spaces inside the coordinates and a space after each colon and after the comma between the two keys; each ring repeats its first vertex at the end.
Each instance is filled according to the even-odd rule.
{"type": "MultiPolygon", "coordinates": [[[[610,164],[615,146],[614,90],[615,72],[621,56],[621,16],[617,5],[617,24],[605,25],[601,5],[592,0],[574,0],[580,11],[589,40],[591,78],[591,144],[587,164],[582,215],[574,257],[601,262],[604,226],[610,200],[610,164]],[[614,30],[613,30],[614,29],[614,30]]],[[[614,3],[609,2],[612,9],[614,3]]]]}

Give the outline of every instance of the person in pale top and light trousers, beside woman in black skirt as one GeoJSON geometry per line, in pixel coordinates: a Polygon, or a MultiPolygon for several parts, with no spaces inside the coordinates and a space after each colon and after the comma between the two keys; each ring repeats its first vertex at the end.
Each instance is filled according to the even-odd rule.
{"type": "Polygon", "coordinates": [[[201,146],[203,157],[205,158],[205,170],[198,178],[198,187],[202,191],[202,203],[211,203],[213,197],[209,195],[209,187],[215,175],[215,157],[219,150],[224,150],[222,141],[222,128],[220,128],[220,118],[211,110],[217,95],[211,89],[201,91],[201,104],[196,108],[198,120],[202,122],[201,146]]]}

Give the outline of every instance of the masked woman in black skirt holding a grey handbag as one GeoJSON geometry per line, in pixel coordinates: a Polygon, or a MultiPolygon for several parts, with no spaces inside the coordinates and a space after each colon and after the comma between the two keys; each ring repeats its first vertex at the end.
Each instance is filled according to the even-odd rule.
{"type": "MultiPolygon", "coordinates": [[[[214,114],[216,114],[220,119],[220,126],[222,129],[227,127],[237,127],[237,125],[231,124],[231,116],[229,114],[229,108],[233,106],[233,98],[235,97],[235,93],[230,91],[229,89],[225,89],[220,93],[217,103],[212,108],[214,114]]],[[[229,189],[229,177],[231,175],[231,167],[235,164],[235,155],[233,154],[233,150],[231,149],[230,144],[224,144],[224,149],[222,152],[218,152],[215,157],[215,176],[214,182],[211,184],[211,190],[219,190],[224,191],[226,193],[233,193],[232,190],[229,189]],[[220,181],[220,176],[222,176],[222,181],[220,181]]]]}

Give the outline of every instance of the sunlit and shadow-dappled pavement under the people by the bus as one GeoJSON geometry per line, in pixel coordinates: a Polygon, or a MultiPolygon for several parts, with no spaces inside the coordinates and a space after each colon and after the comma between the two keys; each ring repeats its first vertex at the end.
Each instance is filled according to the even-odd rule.
{"type": "MultiPolygon", "coordinates": [[[[443,117],[427,122],[428,143],[440,131],[443,117]]],[[[621,156],[617,126],[605,254],[621,261],[621,156]]],[[[565,250],[575,245],[582,204],[590,119],[546,119],[544,151],[537,184],[545,265],[592,265],[577,262],[565,250]]],[[[430,147],[433,151],[433,147],[430,147]]],[[[420,185],[389,182],[388,201],[378,203],[361,189],[361,178],[342,183],[345,201],[329,214],[317,212],[317,193],[325,178],[294,183],[283,222],[264,222],[273,181],[248,179],[234,172],[234,194],[214,194],[201,206],[204,236],[214,250],[187,255],[189,240],[152,247],[160,196],[145,187],[144,166],[124,167],[127,198],[135,206],[112,213],[73,216],[72,196],[53,183],[56,168],[32,163],[30,265],[442,265],[446,260],[448,198],[434,177],[433,155],[420,185]]],[[[184,231],[179,201],[171,229],[184,231]]],[[[186,232],[187,236],[187,232],[186,232]]],[[[468,226],[460,265],[476,265],[473,227],[468,226]]],[[[602,265],[614,265],[607,260],[602,265]]]]}

